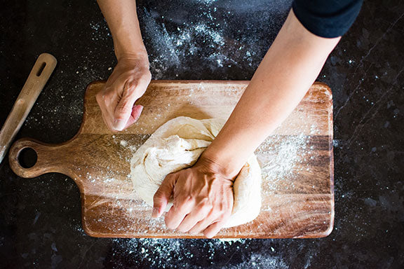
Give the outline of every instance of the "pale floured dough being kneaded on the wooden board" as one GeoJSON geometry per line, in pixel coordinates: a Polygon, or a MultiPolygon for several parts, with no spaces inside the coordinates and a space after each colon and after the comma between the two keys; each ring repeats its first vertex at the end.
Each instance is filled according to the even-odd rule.
{"type": "MultiPolygon", "coordinates": [[[[177,117],[161,125],[135,152],[130,162],[133,187],[147,204],[167,174],[196,163],[215,139],[226,120],[196,120],[177,117]]],[[[250,156],[234,181],[234,206],[224,227],[238,226],[255,219],[261,209],[261,170],[255,155],[250,156]]],[[[173,204],[169,202],[166,211],[173,204]]]]}

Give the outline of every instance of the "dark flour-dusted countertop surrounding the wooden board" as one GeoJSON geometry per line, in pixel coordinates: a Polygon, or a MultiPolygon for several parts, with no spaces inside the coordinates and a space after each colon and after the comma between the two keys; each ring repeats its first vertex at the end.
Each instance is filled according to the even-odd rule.
{"type": "MultiPolygon", "coordinates": [[[[137,1],[154,79],[244,80],[290,1],[137,1]],[[163,3],[163,4],[162,4],[163,3]]],[[[59,143],[79,130],[83,92],[114,67],[95,1],[3,1],[0,125],[43,52],[58,67],[20,137],[59,143]]],[[[0,164],[0,268],[402,268],[404,4],[365,1],[318,77],[334,95],[335,228],[310,240],[89,237],[79,189],[62,174],[15,176],[0,164]]]]}

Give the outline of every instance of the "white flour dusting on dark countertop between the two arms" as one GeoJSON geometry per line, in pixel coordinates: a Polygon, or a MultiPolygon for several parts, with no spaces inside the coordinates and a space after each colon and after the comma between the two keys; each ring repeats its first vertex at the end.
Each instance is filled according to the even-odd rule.
{"type": "MultiPolygon", "coordinates": [[[[260,60],[261,56],[258,56],[257,52],[260,53],[261,50],[257,42],[247,42],[243,38],[236,40],[227,36],[227,20],[217,22],[215,18],[215,0],[197,2],[196,17],[178,24],[176,29],[161,22],[163,16],[156,17],[152,12],[143,11],[146,32],[153,33],[147,36],[149,42],[146,45],[154,78],[165,78],[164,74],[169,69],[181,70],[191,59],[203,59],[198,66],[203,70],[236,65],[251,67],[253,62],[260,60]],[[242,61],[238,62],[236,59],[242,61]]],[[[251,41],[252,37],[248,36],[248,39],[251,41]]],[[[222,71],[225,72],[224,69],[222,71]]]]}

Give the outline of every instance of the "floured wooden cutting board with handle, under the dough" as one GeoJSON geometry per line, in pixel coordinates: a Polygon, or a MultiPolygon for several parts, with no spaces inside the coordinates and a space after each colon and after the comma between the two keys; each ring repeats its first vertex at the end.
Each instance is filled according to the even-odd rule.
{"type": "MultiPolygon", "coordinates": [[[[110,132],[95,94],[105,82],[90,83],[83,123],[62,144],[23,138],[9,159],[20,177],[59,172],[81,192],[83,229],[95,237],[203,237],[168,230],[163,218],[137,197],[130,180],[130,158],[167,120],[177,116],[228,118],[248,81],[152,81],[137,104],[144,110],[128,130],[110,132]],[[36,164],[23,168],[22,149],[31,148],[36,164]]],[[[253,137],[252,137],[253,139],[253,137]]],[[[217,237],[324,237],[334,220],[332,93],[314,83],[287,120],[256,151],[262,167],[262,211],[250,223],[222,229],[217,237]]]]}

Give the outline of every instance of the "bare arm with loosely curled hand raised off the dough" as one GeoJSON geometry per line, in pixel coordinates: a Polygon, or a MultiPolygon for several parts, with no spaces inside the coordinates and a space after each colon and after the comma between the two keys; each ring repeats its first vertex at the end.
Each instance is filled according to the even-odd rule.
{"type": "Polygon", "coordinates": [[[135,0],[97,0],[114,39],[118,64],[105,89],[97,95],[105,123],[123,130],[139,118],[143,107],[134,105],[149,85],[152,75],[144,48],[135,0]]]}

